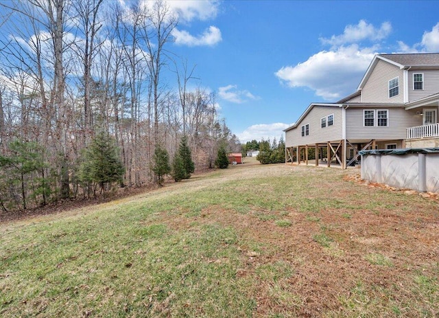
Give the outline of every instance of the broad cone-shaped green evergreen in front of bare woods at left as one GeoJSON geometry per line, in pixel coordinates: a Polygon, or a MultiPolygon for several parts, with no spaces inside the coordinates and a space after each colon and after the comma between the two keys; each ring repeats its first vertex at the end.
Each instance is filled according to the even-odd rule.
{"type": "Polygon", "coordinates": [[[114,139],[106,133],[97,134],[84,150],[80,163],[80,181],[88,185],[88,191],[91,183],[99,184],[101,191],[105,191],[105,185],[120,181],[123,172],[114,139]]]}

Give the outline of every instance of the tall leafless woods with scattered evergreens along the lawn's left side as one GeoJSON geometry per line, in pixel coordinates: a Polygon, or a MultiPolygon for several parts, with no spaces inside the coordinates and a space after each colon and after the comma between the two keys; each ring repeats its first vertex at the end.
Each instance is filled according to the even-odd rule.
{"type": "Polygon", "coordinates": [[[165,2],[0,5],[1,209],[156,182],[155,149],[172,159],[183,137],[197,169],[219,146],[240,151],[215,93],[188,89],[195,67],[171,52],[178,16],[165,2]]]}

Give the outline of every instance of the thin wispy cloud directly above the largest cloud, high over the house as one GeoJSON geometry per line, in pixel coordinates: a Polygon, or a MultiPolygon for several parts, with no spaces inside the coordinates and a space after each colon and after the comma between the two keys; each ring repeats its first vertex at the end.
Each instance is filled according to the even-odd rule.
{"type": "Polygon", "coordinates": [[[381,41],[392,32],[392,25],[389,22],[381,23],[379,28],[360,20],[357,25],[346,25],[343,34],[333,35],[331,38],[320,38],[323,44],[329,45],[346,45],[350,43],[359,43],[360,41],[381,41]]]}

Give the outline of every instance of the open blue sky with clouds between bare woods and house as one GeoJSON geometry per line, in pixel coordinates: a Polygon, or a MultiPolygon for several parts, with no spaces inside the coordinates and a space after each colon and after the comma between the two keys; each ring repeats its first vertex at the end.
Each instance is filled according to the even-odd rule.
{"type": "Polygon", "coordinates": [[[311,102],[353,93],[376,53],[439,52],[438,1],[169,3],[188,16],[171,50],[241,142],[278,139],[311,102]]]}

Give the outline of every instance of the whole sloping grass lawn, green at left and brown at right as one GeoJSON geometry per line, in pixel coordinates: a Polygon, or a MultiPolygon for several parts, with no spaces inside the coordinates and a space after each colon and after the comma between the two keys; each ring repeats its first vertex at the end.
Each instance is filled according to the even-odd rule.
{"type": "Polygon", "coordinates": [[[438,317],[439,202],[250,160],[0,224],[0,317],[438,317]]]}

